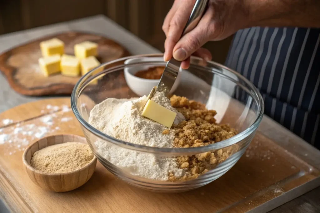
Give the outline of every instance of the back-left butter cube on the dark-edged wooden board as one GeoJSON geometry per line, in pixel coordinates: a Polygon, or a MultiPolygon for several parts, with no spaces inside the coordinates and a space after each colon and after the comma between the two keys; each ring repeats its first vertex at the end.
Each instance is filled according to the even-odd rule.
{"type": "Polygon", "coordinates": [[[40,42],[40,49],[43,57],[64,53],[64,43],[57,38],[40,42]]]}

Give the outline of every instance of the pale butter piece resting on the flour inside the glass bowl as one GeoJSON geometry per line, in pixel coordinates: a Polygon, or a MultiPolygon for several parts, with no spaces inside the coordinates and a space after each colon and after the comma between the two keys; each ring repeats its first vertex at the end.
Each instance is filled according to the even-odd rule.
{"type": "Polygon", "coordinates": [[[142,116],[150,118],[168,128],[171,128],[176,115],[177,113],[168,110],[152,100],[147,101],[142,111],[142,116]]]}

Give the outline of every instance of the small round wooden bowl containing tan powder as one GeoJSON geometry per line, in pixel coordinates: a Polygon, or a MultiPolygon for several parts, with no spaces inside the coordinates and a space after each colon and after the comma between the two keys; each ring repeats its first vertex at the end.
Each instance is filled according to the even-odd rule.
{"type": "Polygon", "coordinates": [[[54,144],[66,142],[86,143],[86,139],[71,134],[52,135],[42,138],[26,148],[22,156],[22,161],[29,178],[36,185],[49,191],[67,192],[84,185],[91,178],[97,164],[97,158],[95,156],[92,158],[92,161],[83,168],[65,173],[45,173],[36,170],[30,165],[31,157],[36,151],[54,144]]]}

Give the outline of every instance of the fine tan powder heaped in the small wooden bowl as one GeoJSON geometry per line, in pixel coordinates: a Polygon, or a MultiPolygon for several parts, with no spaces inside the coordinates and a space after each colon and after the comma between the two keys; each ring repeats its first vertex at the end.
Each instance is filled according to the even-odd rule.
{"type": "Polygon", "coordinates": [[[42,172],[64,173],[84,167],[92,158],[93,154],[87,144],[67,142],[36,151],[30,164],[42,172]]]}

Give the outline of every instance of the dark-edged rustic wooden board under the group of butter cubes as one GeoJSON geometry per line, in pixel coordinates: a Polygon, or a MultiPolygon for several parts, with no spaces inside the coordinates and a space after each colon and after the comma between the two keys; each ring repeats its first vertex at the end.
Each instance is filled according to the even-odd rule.
{"type": "Polygon", "coordinates": [[[98,43],[98,60],[101,63],[129,56],[130,53],[115,41],[100,35],[66,32],[47,36],[15,47],[0,55],[0,70],[10,86],[23,95],[70,95],[80,77],[61,74],[45,77],[38,65],[41,57],[39,44],[42,41],[59,38],[65,43],[65,53],[74,55],[74,45],[84,41],[98,43]]]}

